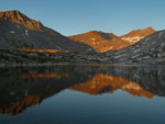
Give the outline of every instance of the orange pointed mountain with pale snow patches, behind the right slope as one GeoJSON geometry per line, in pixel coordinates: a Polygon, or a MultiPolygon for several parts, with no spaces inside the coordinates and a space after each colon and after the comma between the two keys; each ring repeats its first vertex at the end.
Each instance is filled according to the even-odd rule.
{"type": "Polygon", "coordinates": [[[130,44],[134,44],[139,41],[141,41],[142,38],[155,33],[156,31],[152,27],[147,27],[147,29],[144,29],[144,30],[135,30],[135,31],[132,31],[125,35],[122,35],[120,36],[121,40],[130,43],[130,44]]]}

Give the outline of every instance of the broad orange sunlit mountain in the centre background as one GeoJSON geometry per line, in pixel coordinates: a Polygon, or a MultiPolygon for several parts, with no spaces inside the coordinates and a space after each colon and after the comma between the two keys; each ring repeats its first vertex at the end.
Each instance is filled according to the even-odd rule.
{"type": "Polygon", "coordinates": [[[113,33],[103,33],[98,31],[73,35],[68,38],[85,43],[91,46],[98,53],[117,50],[130,45],[128,42],[124,42],[120,37],[116,36],[113,33]]]}

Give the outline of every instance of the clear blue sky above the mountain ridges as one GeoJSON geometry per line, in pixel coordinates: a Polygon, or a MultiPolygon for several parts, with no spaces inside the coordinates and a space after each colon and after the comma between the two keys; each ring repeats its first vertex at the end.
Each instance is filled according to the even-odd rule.
{"type": "Polygon", "coordinates": [[[88,31],[123,35],[165,30],[165,0],[0,0],[0,11],[20,10],[63,35],[88,31]]]}

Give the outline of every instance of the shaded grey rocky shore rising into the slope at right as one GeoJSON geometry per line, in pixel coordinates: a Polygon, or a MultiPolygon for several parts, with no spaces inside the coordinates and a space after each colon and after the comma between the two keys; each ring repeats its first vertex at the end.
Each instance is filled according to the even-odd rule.
{"type": "Polygon", "coordinates": [[[31,53],[0,50],[1,64],[165,64],[165,31],[120,50],[106,53],[31,53]]]}

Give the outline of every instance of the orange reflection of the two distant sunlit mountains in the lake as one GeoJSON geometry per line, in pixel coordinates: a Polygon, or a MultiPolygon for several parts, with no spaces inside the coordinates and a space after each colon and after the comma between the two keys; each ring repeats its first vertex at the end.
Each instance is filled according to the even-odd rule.
{"type": "Polygon", "coordinates": [[[153,98],[154,94],[148,92],[147,90],[141,88],[141,86],[136,82],[130,81],[128,79],[97,74],[92,79],[87,82],[75,84],[70,87],[72,90],[77,90],[81,92],[86,92],[89,94],[99,94],[105,92],[114,92],[116,90],[128,91],[133,95],[153,98]]]}

